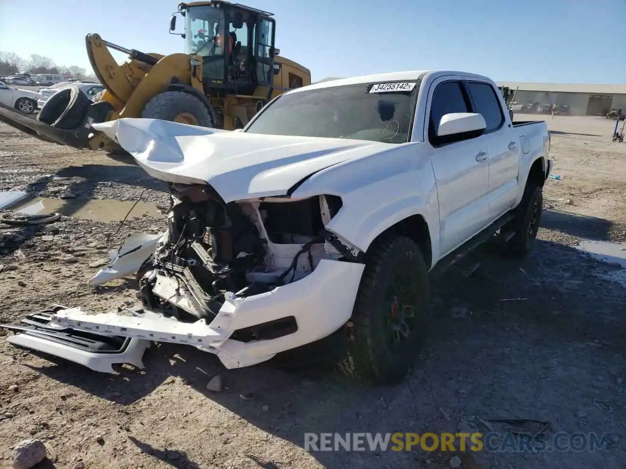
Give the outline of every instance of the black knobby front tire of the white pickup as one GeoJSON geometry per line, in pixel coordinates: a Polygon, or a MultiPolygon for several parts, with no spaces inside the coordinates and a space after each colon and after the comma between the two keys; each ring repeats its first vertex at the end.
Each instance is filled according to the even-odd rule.
{"type": "Polygon", "coordinates": [[[393,385],[411,369],[426,338],[428,268],[419,246],[409,238],[389,235],[375,243],[366,257],[352,317],[344,327],[347,347],[339,368],[359,381],[393,385]],[[404,303],[406,308],[398,306],[398,297],[390,296],[390,290],[407,292],[403,303],[406,298],[411,301],[404,303]],[[399,308],[413,317],[406,320],[405,341],[394,348],[389,343],[393,335],[389,321],[398,318],[399,308]]]}

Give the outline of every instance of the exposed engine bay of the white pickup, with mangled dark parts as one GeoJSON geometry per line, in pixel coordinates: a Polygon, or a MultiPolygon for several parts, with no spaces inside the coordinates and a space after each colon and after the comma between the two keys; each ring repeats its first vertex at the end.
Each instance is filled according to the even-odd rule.
{"type": "MultiPolygon", "coordinates": [[[[227,292],[259,295],[309,275],[322,259],[357,260],[324,228],[341,208],[338,196],[225,204],[208,185],[170,188],[167,236],[138,272],[148,310],[210,323],[227,292]]],[[[239,340],[261,338],[254,335],[239,340]]]]}

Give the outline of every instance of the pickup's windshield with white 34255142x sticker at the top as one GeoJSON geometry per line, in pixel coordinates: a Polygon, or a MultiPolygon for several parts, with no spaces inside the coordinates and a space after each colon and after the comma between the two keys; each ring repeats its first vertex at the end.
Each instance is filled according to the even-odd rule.
{"type": "Polygon", "coordinates": [[[246,133],[405,143],[418,84],[361,83],[297,91],[264,109],[246,133]]]}

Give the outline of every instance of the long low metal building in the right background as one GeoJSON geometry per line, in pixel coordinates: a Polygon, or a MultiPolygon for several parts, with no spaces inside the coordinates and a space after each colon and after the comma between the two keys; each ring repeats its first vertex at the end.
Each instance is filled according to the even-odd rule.
{"type": "Polygon", "coordinates": [[[560,84],[498,82],[498,86],[518,88],[518,104],[569,106],[579,116],[605,116],[611,108],[626,111],[626,84],[560,84]]]}

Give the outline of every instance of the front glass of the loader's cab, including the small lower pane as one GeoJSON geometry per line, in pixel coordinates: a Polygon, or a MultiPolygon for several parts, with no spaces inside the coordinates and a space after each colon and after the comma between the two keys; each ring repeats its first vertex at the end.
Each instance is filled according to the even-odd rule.
{"type": "Polygon", "coordinates": [[[228,51],[225,40],[225,16],[221,8],[209,5],[187,9],[185,52],[203,58],[203,74],[208,79],[223,80],[224,58],[228,51]]]}

